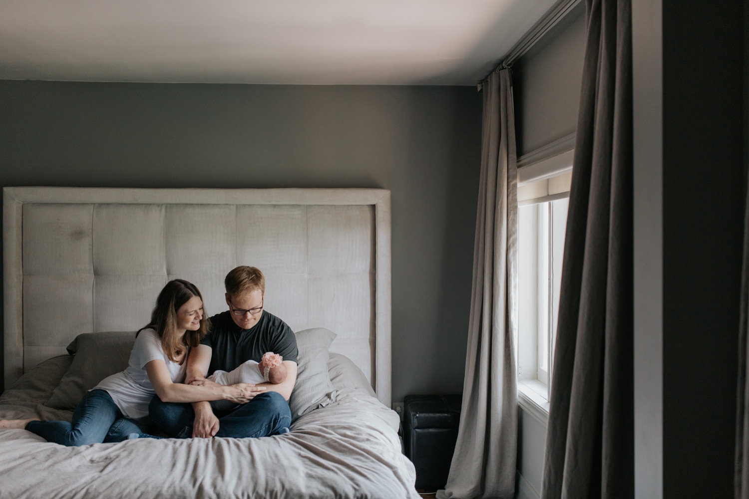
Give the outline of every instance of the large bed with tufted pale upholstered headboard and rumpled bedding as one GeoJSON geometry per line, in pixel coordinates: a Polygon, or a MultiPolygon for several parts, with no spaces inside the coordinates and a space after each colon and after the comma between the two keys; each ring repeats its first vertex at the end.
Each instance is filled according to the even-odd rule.
{"type": "Polygon", "coordinates": [[[297,334],[291,432],[63,447],[0,429],[0,498],[418,498],[390,406],[389,192],[5,188],[0,418],[70,420],[171,278],[262,269],[297,334]]]}

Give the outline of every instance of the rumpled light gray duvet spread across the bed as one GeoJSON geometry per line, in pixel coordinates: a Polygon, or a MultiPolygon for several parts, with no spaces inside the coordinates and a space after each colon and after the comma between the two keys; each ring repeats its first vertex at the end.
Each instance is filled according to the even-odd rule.
{"type": "MultiPolygon", "coordinates": [[[[68,419],[40,404],[65,358],[0,397],[0,418],[68,419]]],[[[334,384],[336,380],[332,379],[334,384]]],[[[339,380],[340,381],[340,380],[339,380]]],[[[336,402],[266,438],[142,438],[64,447],[0,429],[0,498],[419,498],[398,415],[368,390],[338,385],[336,402]]]]}

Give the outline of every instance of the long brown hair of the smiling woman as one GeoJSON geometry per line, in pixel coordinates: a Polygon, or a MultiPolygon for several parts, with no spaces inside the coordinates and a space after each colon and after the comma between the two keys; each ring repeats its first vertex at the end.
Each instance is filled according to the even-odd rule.
{"type": "MultiPolygon", "coordinates": [[[[203,308],[200,328],[197,331],[185,331],[184,337],[180,341],[177,334],[177,311],[193,296],[197,296],[203,301],[203,296],[201,296],[195,284],[184,279],[169,281],[156,299],[156,307],[151,312],[151,322],[138,331],[140,333],[144,329],[154,329],[161,340],[161,347],[172,362],[175,362],[175,359],[184,352],[187,346],[191,348],[198,346],[200,340],[208,333],[210,328],[210,320],[205,308],[203,308]]],[[[183,362],[184,358],[180,364],[183,362]]]]}

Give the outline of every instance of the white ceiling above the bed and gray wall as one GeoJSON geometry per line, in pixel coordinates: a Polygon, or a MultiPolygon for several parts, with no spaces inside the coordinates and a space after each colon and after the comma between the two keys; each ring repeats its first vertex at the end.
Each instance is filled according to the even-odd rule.
{"type": "Polygon", "coordinates": [[[0,79],[473,85],[556,0],[0,0],[0,79]]]}

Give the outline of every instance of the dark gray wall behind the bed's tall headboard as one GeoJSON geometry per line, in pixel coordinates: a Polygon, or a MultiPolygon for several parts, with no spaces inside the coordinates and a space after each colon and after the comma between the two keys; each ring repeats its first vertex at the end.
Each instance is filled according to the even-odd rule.
{"type": "Polygon", "coordinates": [[[473,87],[0,82],[1,186],[390,189],[396,401],[462,391],[480,135],[473,87]]]}

